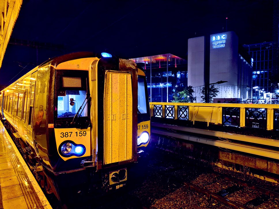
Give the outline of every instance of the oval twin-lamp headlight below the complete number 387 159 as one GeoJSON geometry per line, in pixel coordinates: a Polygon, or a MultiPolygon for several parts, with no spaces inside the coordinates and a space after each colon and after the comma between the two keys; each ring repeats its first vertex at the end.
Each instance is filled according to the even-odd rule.
{"type": "Polygon", "coordinates": [[[70,140],[64,141],[59,145],[59,153],[63,157],[71,157],[73,155],[80,157],[85,154],[85,151],[84,145],[78,145],[70,140]]]}

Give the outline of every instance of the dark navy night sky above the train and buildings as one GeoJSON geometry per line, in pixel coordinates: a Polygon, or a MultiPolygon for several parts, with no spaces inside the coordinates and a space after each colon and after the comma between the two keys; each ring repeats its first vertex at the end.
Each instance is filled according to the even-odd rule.
{"type": "Polygon", "coordinates": [[[240,44],[272,41],[272,14],[269,0],[23,0],[11,42],[52,44],[55,50],[8,44],[0,86],[70,52],[106,51],[120,58],[171,53],[187,59],[189,38],[226,30],[234,31],[240,44]]]}

